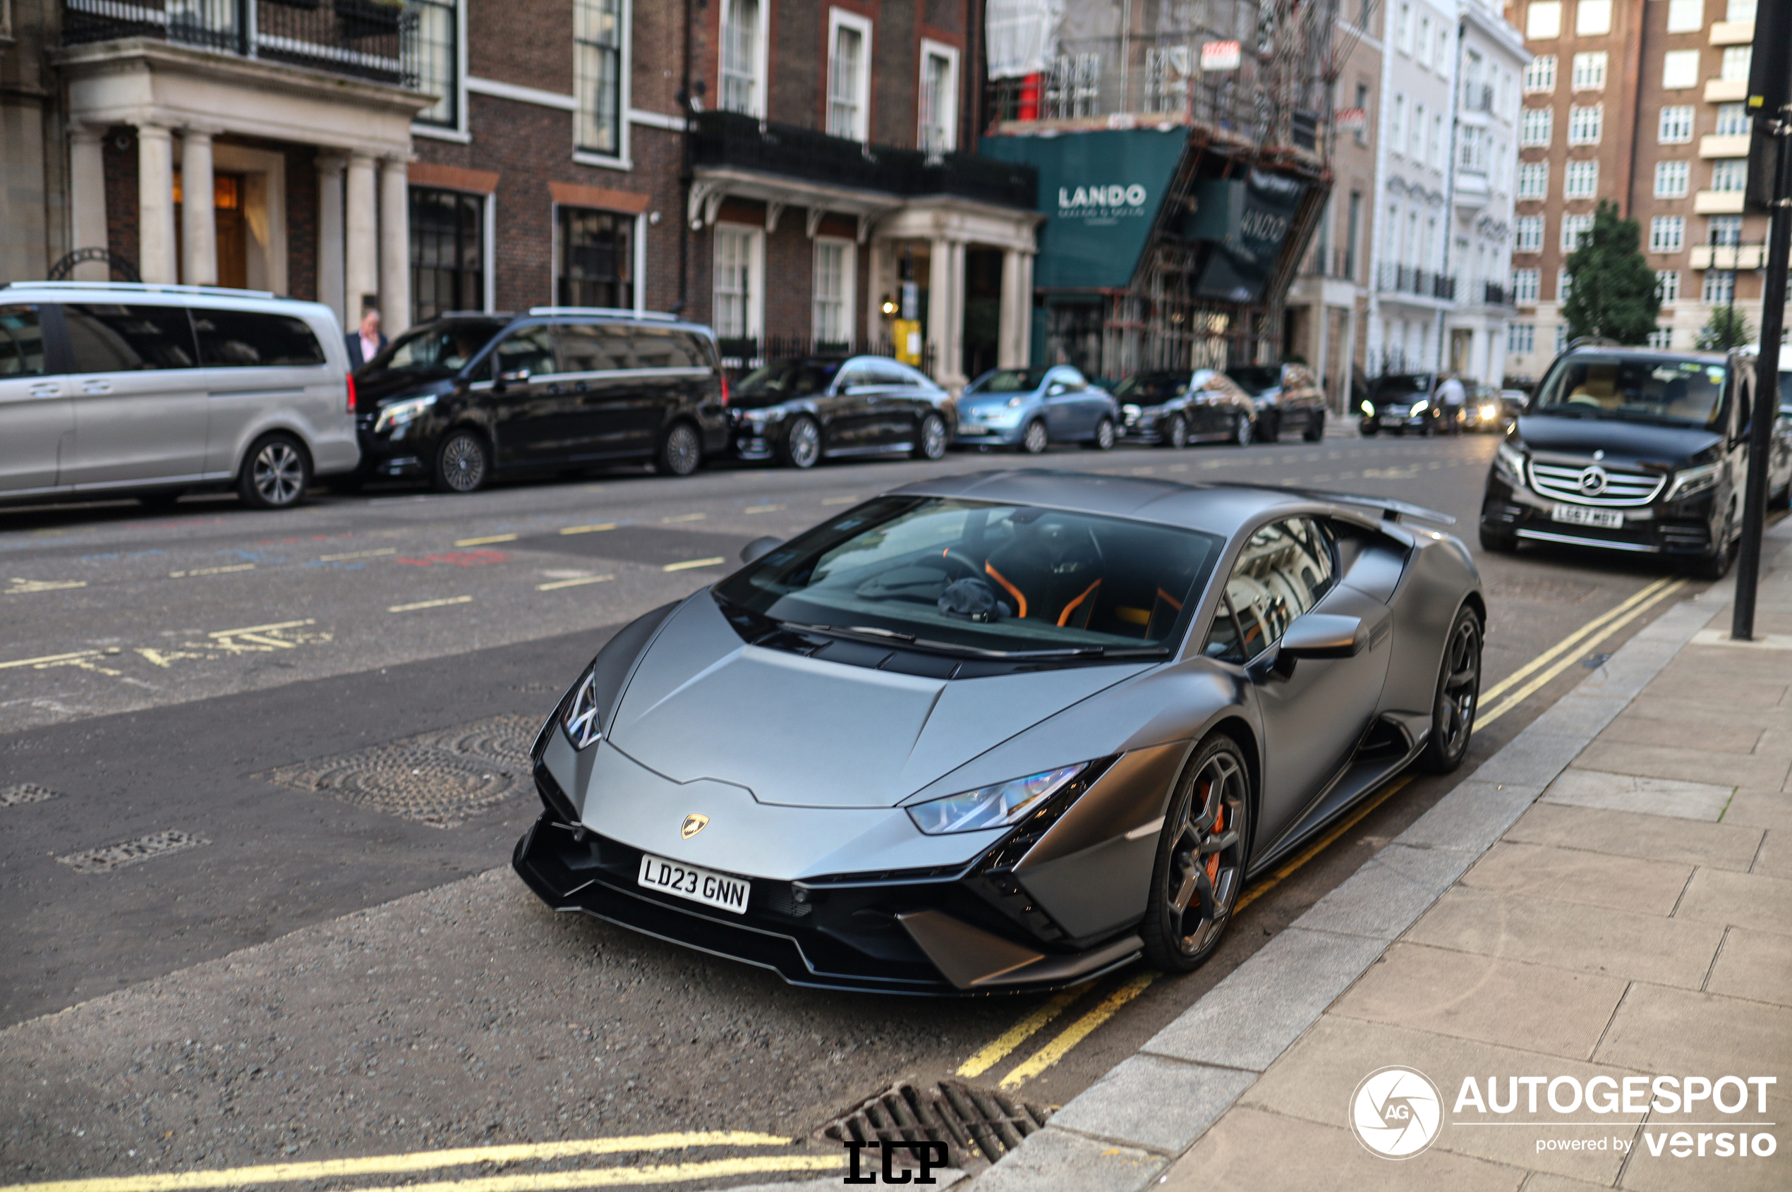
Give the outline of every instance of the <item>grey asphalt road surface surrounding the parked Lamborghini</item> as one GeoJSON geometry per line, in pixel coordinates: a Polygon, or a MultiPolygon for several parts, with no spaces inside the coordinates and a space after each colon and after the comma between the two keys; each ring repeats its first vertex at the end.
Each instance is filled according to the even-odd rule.
{"type": "MultiPolygon", "coordinates": [[[[1473,545],[1493,446],[1043,462],[1400,497],[1455,514],[1473,545]]],[[[538,810],[518,749],[615,627],[713,583],[751,538],[1012,462],[613,471],[321,495],[285,514],[210,498],[174,516],[0,511],[5,1183],[665,1131],[801,1140],[894,1081],[961,1070],[1036,1104],[1075,1095],[1453,780],[1414,780],[1265,885],[1201,972],[1134,968],[1057,1000],[792,989],[556,920],[507,868],[538,810]],[[1050,1022],[1014,1031],[1029,1016],[1050,1022]],[[1023,1038],[993,1058],[1004,1034],[1023,1038]]],[[[1477,556],[1487,683],[1663,577],[1563,550],[1477,556]]],[[[1462,773],[1582,674],[1477,733],[1462,773]]],[[[658,1138],[615,1162],[722,1163],[658,1176],[686,1187],[765,1178],[799,1151],[658,1138]]]]}

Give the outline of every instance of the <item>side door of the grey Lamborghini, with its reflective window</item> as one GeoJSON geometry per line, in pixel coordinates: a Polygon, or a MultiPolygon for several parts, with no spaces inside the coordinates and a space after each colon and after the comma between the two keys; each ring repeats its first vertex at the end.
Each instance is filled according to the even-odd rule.
{"type": "Polygon", "coordinates": [[[1276,663],[1276,645],[1296,617],[1342,613],[1385,624],[1387,606],[1337,584],[1333,548],[1312,518],[1263,525],[1238,554],[1226,581],[1233,624],[1215,618],[1210,656],[1235,661],[1263,719],[1263,821],[1258,844],[1297,823],[1349,758],[1382,697],[1391,635],[1355,658],[1276,663]],[[1215,649],[1220,647],[1220,649],[1215,649]]]}

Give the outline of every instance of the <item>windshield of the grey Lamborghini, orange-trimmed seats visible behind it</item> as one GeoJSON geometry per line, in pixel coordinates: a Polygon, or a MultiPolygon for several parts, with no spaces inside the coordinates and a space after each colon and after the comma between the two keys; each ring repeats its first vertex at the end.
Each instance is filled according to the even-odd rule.
{"type": "Polygon", "coordinates": [[[776,622],[955,654],[1163,652],[1219,550],[1168,525],[882,497],[715,592],[776,622]]]}

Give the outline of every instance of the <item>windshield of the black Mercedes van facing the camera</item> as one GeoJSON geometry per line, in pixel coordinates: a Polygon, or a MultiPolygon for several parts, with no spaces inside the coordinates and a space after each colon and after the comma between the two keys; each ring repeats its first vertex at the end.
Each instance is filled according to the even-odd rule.
{"type": "Polygon", "coordinates": [[[1532,414],[1715,427],[1729,371],[1706,360],[1573,355],[1543,378],[1532,414]]]}

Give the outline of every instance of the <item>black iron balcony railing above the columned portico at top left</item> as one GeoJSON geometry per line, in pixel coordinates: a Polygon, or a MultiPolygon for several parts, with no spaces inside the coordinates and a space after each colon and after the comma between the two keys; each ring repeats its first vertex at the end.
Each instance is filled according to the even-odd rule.
{"type": "Polygon", "coordinates": [[[63,43],[154,38],[416,86],[414,20],[392,0],[65,0],[63,43]]]}

